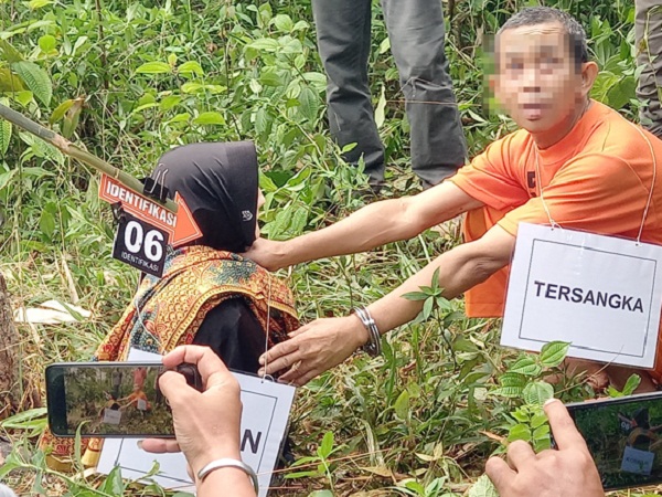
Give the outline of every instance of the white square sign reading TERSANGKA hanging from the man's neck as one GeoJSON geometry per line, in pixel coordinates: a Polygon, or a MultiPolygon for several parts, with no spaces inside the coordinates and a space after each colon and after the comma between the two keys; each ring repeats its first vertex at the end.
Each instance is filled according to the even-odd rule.
{"type": "Polygon", "coordinates": [[[662,246],[522,223],[501,345],[652,368],[662,305],[662,246]]]}

